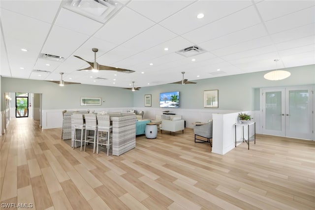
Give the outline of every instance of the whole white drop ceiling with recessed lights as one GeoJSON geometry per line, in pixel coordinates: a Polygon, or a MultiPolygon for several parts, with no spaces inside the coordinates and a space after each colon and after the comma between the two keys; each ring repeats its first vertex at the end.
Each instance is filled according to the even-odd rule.
{"type": "Polygon", "coordinates": [[[314,0],[116,1],[122,8],[103,24],[65,0],[1,0],[1,76],[59,80],[64,72],[65,81],[127,88],[177,82],[182,71],[192,81],[315,64],[314,0]],[[206,52],[176,53],[193,45],[206,52]],[[88,64],[73,56],[94,61],[92,48],[99,64],[135,72],[77,71],[88,64]]]}

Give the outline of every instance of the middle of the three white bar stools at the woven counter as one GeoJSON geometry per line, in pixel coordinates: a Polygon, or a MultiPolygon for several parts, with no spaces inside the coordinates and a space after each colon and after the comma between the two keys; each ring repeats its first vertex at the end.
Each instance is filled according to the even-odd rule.
{"type": "Polygon", "coordinates": [[[95,153],[96,133],[97,133],[97,121],[95,114],[84,114],[85,118],[85,139],[84,139],[84,151],[87,143],[93,143],[93,153],[95,153]],[[93,135],[90,131],[94,131],[93,135]]]}

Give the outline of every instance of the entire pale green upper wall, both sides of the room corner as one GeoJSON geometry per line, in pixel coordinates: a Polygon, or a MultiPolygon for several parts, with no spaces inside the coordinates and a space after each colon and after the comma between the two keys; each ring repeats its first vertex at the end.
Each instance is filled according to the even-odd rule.
{"type": "MultiPolygon", "coordinates": [[[[159,107],[159,93],[180,91],[180,108],[212,109],[203,107],[203,91],[219,90],[220,110],[259,110],[259,89],[315,85],[315,65],[286,68],[291,76],[281,81],[263,78],[268,71],[194,80],[197,84],[166,84],[142,87],[137,91],[94,85],[65,85],[27,79],[1,77],[1,110],[4,92],[43,93],[43,109],[82,109],[144,107],[144,95],[152,94],[152,108],[159,107]],[[80,97],[101,97],[101,106],[80,106],[80,97]]],[[[13,99],[12,99],[13,100],[13,99]]],[[[173,108],[176,109],[176,108],[173,108]]]]}

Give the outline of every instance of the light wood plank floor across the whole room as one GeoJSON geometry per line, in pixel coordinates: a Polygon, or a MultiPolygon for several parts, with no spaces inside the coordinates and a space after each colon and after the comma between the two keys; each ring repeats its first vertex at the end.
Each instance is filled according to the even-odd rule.
{"type": "Polygon", "coordinates": [[[12,119],[0,141],[3,209],[315,209],[312,141],[257,135],[250,150],[218,155],[186,129],[137,137],[135,149],[106,156],[73,150],[61,129],[27,118],[12,119]]]}

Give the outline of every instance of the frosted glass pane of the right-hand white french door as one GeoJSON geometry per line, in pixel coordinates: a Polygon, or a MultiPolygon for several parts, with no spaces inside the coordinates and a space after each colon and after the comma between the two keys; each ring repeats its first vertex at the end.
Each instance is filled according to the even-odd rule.
{"type": "Polygon", "coordinates": [[[308,133],[309,121],[309,92],[308,90],[289,90],[289,112],[287,113],[289,129],[308,133]]]}

